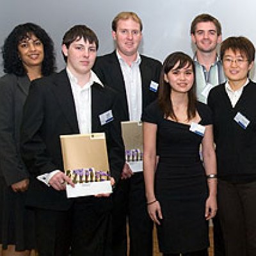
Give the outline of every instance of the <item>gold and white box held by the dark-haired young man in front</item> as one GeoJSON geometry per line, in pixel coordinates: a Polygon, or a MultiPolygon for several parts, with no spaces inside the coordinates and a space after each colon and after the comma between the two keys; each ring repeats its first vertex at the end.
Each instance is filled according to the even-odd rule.
{"type": "Polygon", "coordinates": [[[67,197],[111,193],[108,152],[104,133],[61,135],[65,173],[75,183],[67,197]]]}

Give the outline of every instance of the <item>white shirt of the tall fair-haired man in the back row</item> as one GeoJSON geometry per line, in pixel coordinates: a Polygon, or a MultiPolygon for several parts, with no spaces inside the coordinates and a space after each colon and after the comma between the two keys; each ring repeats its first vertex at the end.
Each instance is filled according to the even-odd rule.
{"type": "Polygon", "coordinates": [[[118,51],[116,51],[116,55],[124,77],[129,118],[131,121],[140,121],[142,113],[140,54],[137,54],[137,58],[132,62],[131,67],[123,60],[118,51]]]}

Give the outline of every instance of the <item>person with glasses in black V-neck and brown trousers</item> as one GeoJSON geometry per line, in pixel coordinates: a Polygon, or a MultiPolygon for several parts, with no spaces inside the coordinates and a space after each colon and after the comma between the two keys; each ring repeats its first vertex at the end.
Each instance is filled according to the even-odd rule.
{"type": "Polygon", "coordinates": [[[255,47],[243,36],[221,44],[227,82],[208,97],[218,163],[218,208],[227,256],[256,255],[255,47]]]}

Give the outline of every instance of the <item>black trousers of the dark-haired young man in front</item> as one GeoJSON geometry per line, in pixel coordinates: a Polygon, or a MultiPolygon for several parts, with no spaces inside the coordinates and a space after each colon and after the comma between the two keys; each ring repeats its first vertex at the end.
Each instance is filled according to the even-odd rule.
{"type": "Polygon", "coordinates": [[[93,205],[100,200],[105,198],[74,202],[68,211],[36,209],[38,255],[112,255],[110,211],[93,205]]]}

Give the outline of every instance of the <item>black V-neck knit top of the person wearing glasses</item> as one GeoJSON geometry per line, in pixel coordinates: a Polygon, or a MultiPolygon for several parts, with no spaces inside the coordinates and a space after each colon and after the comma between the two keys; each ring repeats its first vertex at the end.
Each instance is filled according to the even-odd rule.
{"type": "Polygon", "coordinates": [[[212,109],[218,176],[239,181],[256,180],[256,84],[250,81],[234,108],[225,84],[212,88],[208,97],[212,109]],[[250,124],[243,129],[234,120],[240,112],[250,124]]]}

